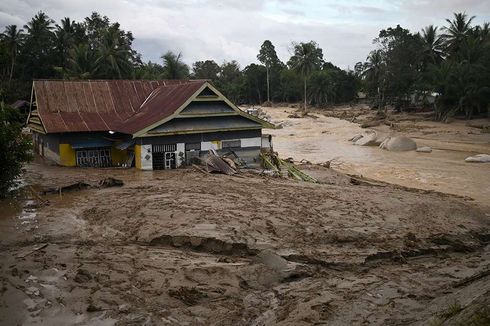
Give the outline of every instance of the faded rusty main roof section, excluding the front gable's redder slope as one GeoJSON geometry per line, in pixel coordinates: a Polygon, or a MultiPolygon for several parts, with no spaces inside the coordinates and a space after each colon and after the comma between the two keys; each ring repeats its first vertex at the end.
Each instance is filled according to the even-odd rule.
{"type": "Polygon", "coordinates": [[[175,91],[193,83],[204,81],[35,80],[33,91],[37,115],[47,133],[120,131],[155,89],[168,86],[175,91]]]}

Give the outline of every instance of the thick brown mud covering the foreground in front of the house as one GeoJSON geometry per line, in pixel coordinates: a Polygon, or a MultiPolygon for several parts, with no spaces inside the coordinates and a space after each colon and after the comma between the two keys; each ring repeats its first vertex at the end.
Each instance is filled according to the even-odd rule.
{"type": "Polygon", "coordinates": [[[488,207],[353,184],[322,169],[312,171],[327,184],[31,164],[25,181],[36,189],[107,176],[125,184],[3,210],[0,324],[466,325],[488,318],[488,207]]]}

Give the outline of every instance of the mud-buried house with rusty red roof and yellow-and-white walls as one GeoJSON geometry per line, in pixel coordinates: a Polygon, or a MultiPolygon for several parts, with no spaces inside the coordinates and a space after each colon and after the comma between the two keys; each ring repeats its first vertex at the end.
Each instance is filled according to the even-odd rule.
{"type": "Polygon", "coordinates": [[[271,124],[204,80],[36,80],[31,103],[35,151],[63,166],[173,169],[211,149],[253,166],[271,146],[271,124]]]}

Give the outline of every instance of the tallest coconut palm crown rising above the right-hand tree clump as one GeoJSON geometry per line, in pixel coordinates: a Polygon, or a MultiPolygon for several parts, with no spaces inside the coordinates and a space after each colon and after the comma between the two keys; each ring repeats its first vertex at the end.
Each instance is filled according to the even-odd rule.
{"type": "Polygon", "coordinates": [[[449,26],[444,27],[443,35],[449,52],[455,54],[461,49],[462,43],[471,33],[471,22],[475,16],[468,17],[466,13],[454,13],[454,19],[446,19],[449,26]]]}

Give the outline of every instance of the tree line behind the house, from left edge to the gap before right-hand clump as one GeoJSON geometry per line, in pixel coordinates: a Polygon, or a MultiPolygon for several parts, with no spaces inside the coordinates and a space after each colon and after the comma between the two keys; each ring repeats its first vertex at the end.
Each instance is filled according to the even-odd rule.
{"type": "Polygon", "coordinates": [[[258,50],[260,64],[243,69],[235,60],[212,59],[189,67],[171,51],[161,63],[144,63],[133,41],[131,32],[96,12],[80,22],[66,17],[59,23],[39,12],[23,28],[9,25],[1,34],[0,97],[7,103],[28,99],[35,78],[209,79],[239,104],[305,100],[324,106],[356,96],[354,73],[325,62],[314,41],[294,43],[294,53],[283,63],[266,40],[258,50]]]}

